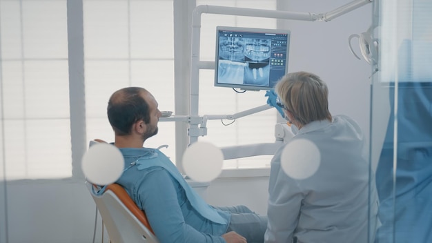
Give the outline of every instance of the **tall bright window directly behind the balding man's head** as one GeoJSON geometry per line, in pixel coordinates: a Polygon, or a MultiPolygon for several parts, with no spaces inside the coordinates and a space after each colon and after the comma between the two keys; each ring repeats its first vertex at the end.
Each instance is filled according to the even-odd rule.
{"type": "MultiPolygon", "coordinates": [[[[84,0],[87,138],[114,141],[106,106],[115,90],[140,86],[160,110],[174,110],[172,0],[84,0]],[[109,4],[108,4],[109,3],[109,4]]],[[[159,122],[146,146],[175,157],[173,122],[159,122]]]]}

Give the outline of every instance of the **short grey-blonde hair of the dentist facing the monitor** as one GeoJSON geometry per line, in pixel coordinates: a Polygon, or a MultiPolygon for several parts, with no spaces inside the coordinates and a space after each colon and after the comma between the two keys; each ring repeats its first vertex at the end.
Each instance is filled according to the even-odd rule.
{"type": "Polygon", "coordinates": [[[294,119],[303,126],[327,119],[328,88],[317,75],[310,72],[291,72],[276,84],[275,91],[286,110],[293,113],[294,119]]]}

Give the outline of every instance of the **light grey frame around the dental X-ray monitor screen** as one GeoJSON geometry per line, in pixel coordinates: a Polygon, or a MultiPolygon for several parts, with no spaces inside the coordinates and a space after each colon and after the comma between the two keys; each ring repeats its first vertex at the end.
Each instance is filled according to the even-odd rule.
{"type": "MultiPolygon", "coordinates": [[[[245,28],[245,27],[233,27],[233,26],[216,26],[216,43],[215,43],[215,80],[214,86],[216,87],[225,87],[225,88],[238,88],[240,90],[271,90],[274,88],[273,86],[255,86],[252,84],[226,84],[218,82],[218,70],[219,70],[219,31],[233,31],[233,32],[262,32],[268,34],[277,34],[277,35],[286,35],[286,55],[284,58],[285,61],[285,70],[284,75],[288,72],[288,60],[289,60],[289,52],[290,52],[290,39],[291,39],[291,30],[284,29],[269,29],[269,28],[245,28]]],[[[283,77],[283,76],[282,76],[283,77]]],[[[279,77],[282,78],[282,77],[279,77]]],[[[276,82],[275,82],[276,83],[276,82]]],[[[274,83],[274,84],[275,84],[274,83]]]]}

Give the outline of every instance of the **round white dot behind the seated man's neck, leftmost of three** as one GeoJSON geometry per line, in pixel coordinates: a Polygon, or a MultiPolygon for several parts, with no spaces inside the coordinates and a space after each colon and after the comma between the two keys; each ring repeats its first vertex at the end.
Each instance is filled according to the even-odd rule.
{"type": "Polygon", "coordinates": [[[112,144],[90,146],[81,160],[81,168],[88,182],[107,185],[116,182],[124,171],[124,158],[112,144]]]}

